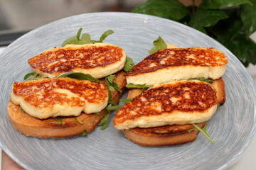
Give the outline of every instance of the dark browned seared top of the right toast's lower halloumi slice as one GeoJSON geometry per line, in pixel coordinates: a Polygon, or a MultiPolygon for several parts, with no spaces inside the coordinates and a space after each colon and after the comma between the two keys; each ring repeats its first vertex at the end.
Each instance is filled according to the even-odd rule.
{"type": "Polygon", "coordinates": [[[204,82],[187,81],[162,84],[135,97],[122,106],[114,118],[114,125],[138,118],[169,114],[173,111],[203,113],[217,104],[216,91],[204,82]]]}

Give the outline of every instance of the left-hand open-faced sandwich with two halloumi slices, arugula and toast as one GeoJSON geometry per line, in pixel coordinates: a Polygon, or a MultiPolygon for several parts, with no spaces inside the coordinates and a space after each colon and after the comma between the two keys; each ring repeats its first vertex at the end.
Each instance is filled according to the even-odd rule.
{"type": "Polygon", "coordinates": [[[80,39],[78,31],[63,47],[28,60],[35,73],[25,79],[33,79],[14,82],[8,106],[16,130],[28,136],[70,137],[107,126],[111,109],[106,107],[125,90],[127,57],[121,47],[102,43],[106,33],[111,34],[93,41],[85,35],[80,39]],[[70,44],[75,41],[77,45],[70,44]]]}

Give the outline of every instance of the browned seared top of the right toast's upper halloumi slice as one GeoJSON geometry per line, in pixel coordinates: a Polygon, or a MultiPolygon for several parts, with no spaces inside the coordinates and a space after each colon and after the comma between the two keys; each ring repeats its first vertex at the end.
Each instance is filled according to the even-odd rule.
{"type": "Polygon", "coordinates": [[[127,76],[178,66],[218,67],[228,63],[220,50],[205,47],[163,49],[139,62],[127,76]]]}

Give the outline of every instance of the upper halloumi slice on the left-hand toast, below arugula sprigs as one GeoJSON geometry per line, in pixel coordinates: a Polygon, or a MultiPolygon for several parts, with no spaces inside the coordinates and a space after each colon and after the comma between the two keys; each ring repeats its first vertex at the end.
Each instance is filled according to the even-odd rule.
{"type": "Polygon", "coordinates": [[[54,47],[28,60],[42,77],[53,78],[65,72],[82,72],[100,79],[124,67],[126,55],[117,45],[95,43],[54,47]]]}

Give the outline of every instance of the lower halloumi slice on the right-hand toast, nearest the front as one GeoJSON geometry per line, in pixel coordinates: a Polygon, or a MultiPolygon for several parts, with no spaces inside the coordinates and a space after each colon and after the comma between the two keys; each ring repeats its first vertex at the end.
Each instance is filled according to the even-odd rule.
{"type": "Polygon", "coordinates": [[[117,130],[202,123],[217,109],[215,89],[203,81],[153,86],[124,104],[114,117],[117,130]]]}

